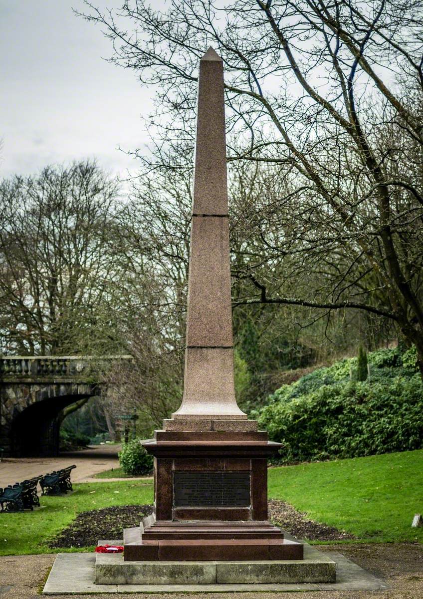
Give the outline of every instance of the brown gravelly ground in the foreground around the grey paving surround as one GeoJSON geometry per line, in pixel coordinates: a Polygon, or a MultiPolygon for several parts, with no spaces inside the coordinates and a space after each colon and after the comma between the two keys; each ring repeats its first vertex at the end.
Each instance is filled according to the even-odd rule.
{"type": "MultiPolygon", "coordinates": [[[[319,549],[339,551],[375,576],[388,582],[387,591],[312,591],[296,595],[299,599],[421,599],[423,597],[423,546],[408,543],[333,544],[319,549]]],[[[36,599],[44,586],[55,555],[19,555],[0,557],[0,599],[36,599]]],[[[281,599],[281,593],[230,593],[186,595],[184,599],[281,599]]],[[[142,596],[142,595],[141,595],[142,596]]],[[[146,599],[182,599],[182,594],[148,594],[146,599]]],[[[87,599],[89,595],[60,595],[60,599],[87,599]]],[[[101,599],[116,595],[99,594],[101,599]]],[[[125,599],[139,599],[125,594],[125,599]]]]}

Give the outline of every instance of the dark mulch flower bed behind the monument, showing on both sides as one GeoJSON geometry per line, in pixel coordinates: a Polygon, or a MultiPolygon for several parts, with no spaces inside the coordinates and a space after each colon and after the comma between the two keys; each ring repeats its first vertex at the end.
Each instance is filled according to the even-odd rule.
{"type": "MultiPolygon", "coordinates": [[[[114,506],[101,510],[81,512],[77,518],[48,543],[52,549],[64,547],[89,547],[100,539],[118,540],[124,528],[138,526],[142,518],[153,513],[153,506],[114,506]]],[[[355,539],[337,528],[318,524],[297,512],[290,504],[277,499],[269,501],[269,519],[298,539],[336,541],[355,539]]]]}

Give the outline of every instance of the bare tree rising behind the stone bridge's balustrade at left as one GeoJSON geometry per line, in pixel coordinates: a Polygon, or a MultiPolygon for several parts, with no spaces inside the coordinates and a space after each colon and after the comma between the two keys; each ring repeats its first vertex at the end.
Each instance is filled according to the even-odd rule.
{"type": "Polygon", "coordinates": [[[114,256],[117,193],[92,162],[0,183],[4,352],[117,353],[109,311],[122,277],[114,256]]]}

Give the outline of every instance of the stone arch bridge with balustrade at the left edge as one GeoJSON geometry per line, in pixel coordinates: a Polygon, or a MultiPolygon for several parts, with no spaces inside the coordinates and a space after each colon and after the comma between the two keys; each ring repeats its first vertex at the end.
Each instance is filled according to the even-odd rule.
{"type": "Polygon", "coordinates": [[[131,356],[0,357],[0,447],[5,455],[57,455],[63,409],[104,395],[104,373],[120,359],[131,356]]]}

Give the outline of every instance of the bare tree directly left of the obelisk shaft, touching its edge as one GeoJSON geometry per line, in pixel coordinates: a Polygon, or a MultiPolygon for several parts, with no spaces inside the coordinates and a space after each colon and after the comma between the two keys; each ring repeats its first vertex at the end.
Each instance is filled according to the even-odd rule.
{"type": "Polygon", "coordinates": [[[108,404],[115,415],[136,409],[142,435],[161,426],[182,395],[190,174],[183,160],[179,165],[173,171],[145,168],[116,216],[125,237],[121,259],[131,273],[120,294],[132,313],[123,328],[133,361],[107,374],[108,404]]]}

